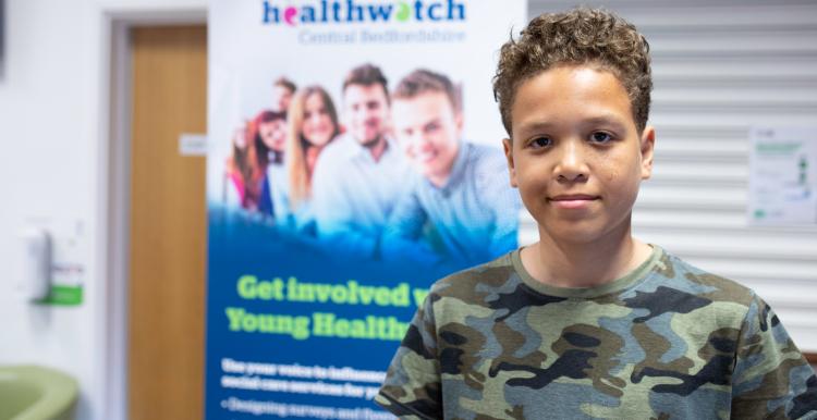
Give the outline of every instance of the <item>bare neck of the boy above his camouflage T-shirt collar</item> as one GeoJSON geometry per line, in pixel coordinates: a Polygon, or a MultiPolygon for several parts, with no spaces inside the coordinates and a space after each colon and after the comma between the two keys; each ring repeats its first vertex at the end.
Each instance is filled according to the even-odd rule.
{"type": "Polygon", "coordinates": [[[630,226],[619,235],[590,244],[541,239],[522,249],[525,270],[536,280],[557,287],[595,287],[635,270],[649,258],[647,244],[632,237],[630,226]]]}

